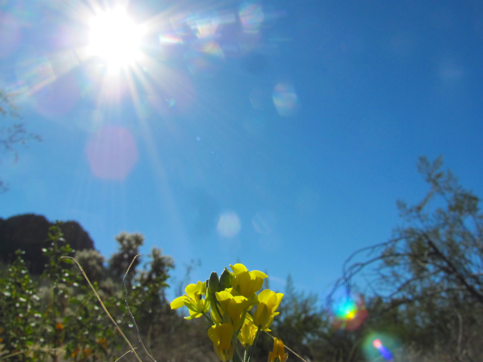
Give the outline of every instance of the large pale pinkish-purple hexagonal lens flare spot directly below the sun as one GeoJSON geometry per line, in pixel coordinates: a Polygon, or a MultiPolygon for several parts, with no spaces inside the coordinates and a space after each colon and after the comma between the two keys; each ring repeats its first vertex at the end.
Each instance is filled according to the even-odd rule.
{"type": "Polygon", "coordinates": [[[105,126],[87,143],[92,173],[105,180],[124,180],[138,159],[136,141],[128,129],[105,126]]]}

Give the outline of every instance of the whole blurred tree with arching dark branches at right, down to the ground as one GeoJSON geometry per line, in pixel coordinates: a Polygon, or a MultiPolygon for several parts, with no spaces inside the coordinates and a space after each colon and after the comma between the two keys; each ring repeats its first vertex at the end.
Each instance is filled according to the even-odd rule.
{"type": "Polygon", "coordinates": [[[373,296],[366,328],[450,348],[455,360],[464,360],[483,317],[483,214],[479,198],[441,167],[441,157],[419,159],[427,195],[414,206],[398,202],[404,226],[390,240],[355,251],[334,290],[364,276],[373,296]],[[375,256],[352,262],[362,252],[375,256]]]}

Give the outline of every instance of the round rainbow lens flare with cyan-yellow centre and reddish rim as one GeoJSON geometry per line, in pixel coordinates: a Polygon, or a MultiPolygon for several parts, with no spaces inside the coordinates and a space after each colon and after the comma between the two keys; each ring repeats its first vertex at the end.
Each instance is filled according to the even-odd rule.
{"type": "Polygon", "coordinates": [[[367,318],[364,299],[361,296],[345,296],[332,306],[333,325],[336,328],[355,331],[367,318]]]}

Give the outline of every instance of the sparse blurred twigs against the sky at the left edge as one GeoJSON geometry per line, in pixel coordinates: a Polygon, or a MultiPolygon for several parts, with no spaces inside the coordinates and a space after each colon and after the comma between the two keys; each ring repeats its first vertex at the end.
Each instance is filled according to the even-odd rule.
{"type": "MultiPolygon", "coordinates": [[[[0,156],[13,153],[14,161],[18,159],[18,145],[26,145],[29,140],[41,141],[39,135],[29,133],[23,123],[8,123],[9,119],[18,118],[17,108],[12,103],[12,95],[0,90],[0,156]]],[[[1,159],[0,159],[1,162],[1,159]]],[[[0,180],[0,193],[5,192],[8,185],[0,180]]]]}

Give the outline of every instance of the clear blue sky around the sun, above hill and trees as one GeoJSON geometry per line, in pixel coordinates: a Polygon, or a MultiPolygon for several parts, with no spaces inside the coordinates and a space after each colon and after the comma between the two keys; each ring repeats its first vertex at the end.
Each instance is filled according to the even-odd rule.
{"type": "Polygon", "coordinates": [[[132,0],[141,56],[117,68],[86,51],[116,5],[1,3],[0,87],[43,142],[1,155],[0,217],[76,220],[104,256],[140,232],[178,280],[242,262],[323,297],[425,195],[419,156],[483,195],[481,1],[132,0]]]}

